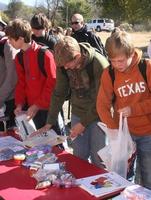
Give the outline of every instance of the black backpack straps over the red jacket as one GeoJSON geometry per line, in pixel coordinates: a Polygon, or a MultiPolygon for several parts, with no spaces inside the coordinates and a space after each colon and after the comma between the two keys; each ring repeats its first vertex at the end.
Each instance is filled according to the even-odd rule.
{"type": "MultiPolygon", "coordinates": [[[[45,56],[45,52],[49,50],[49,47],[48,46],[42,46],[40,47],[39,51],[38,51],[38,54],[37,54],[37,59],[38,59],[38,67],[41,71],[41,73],[47,77],[47,73],[45,71],[45,68],[44,68],[44,56],[45,56]]],[[[20,51],[18,54],[17,54],[17,58],[18,58],[18,62],[19,64],[23,67],[24,69],[24,62],[23,62],[23,51],[20,51]]]]}

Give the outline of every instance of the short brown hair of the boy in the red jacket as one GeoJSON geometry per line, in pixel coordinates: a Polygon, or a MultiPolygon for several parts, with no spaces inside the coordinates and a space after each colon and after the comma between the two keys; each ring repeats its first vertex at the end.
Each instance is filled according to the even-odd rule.
{"type": "Polygon", "coordinates": [[[31,41],[32,30],[28,21],[22,19],[15,19],[10,21],[6,26],[6,35],[18,40],[19,37],[23,37],[25,43],[31,41]]]}

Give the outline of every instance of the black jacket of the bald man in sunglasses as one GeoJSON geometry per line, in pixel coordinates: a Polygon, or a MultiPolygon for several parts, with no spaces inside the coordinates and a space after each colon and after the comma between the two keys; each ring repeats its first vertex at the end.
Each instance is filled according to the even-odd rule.
{"type": "Polygon", "coordinates": [[[88,31],[86,26],[82,27],[78,31],[73,31],[72,37],[75,38],[79,43],[88,42],[92,47],[97,48],[102,55],[107,57],[107,53],[101,42],[101,39],[93,32],[88,31]]]}

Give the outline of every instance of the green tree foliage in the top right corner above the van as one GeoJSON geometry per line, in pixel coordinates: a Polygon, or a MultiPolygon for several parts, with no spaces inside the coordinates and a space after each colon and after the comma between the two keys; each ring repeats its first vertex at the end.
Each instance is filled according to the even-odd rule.
{"type": "Polygon", "coordinates": [[[102,8],[103,17],[116,22],[140,23],[151,18],[150,0],[91,0],[102,8]]]}

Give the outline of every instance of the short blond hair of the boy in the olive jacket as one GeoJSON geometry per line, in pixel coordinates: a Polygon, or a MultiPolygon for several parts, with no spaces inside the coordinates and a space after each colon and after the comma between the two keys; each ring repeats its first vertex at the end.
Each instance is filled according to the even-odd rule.
{"type": "Polygon", "coordinates": [[[80,46],[76,39],[64,36],[54,47],[55,61],[57,66],[64,66],[74,59],[74,53],[80,53],[80,46]]]}

